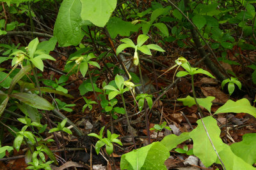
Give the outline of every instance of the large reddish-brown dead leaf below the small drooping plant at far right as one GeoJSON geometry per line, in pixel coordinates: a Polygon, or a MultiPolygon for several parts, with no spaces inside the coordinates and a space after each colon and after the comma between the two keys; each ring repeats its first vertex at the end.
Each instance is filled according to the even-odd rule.
{"type": "Polygon", "coordinates": [[[215,97],[214,101],[212,102],[226,103],[228,101],[228,95],[216,87],[201,87],[201,90],[205,97],[208,97],[208,96],[215,97]]]}

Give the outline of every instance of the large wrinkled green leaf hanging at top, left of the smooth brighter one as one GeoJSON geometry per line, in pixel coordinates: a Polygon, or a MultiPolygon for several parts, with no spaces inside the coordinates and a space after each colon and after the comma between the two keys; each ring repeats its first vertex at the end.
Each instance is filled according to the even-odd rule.
{"type": "Polygon", "coordinates": [[[53,31],[60,46],[76,46],[83,39],[81,9],[79,0],[64,0],[61,3],[53,31]]]}

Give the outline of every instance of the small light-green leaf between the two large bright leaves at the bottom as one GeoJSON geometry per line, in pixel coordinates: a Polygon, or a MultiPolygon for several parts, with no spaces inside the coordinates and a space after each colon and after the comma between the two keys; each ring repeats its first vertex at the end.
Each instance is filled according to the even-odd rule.
{"type": "Polygon", "coordinates": [[[176,148],[177,145],[180,143],[190,139],[188,132],[183,132],[180,134],[180,136],[176,136],[175,134],[169,134],[168,136],[165,136],[161,143],[168,149],[172,150],[173,148],[176,148]]]}

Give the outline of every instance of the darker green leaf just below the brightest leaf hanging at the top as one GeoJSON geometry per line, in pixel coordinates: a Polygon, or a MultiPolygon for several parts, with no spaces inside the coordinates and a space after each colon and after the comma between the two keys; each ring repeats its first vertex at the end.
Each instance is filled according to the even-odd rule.
{"type": "Polygon", "coordinates": [[[130,32],[136,32],[138,28],[138,26],[131,24],[131,22],[126,22],[118,17],[111,17],[107,24],[111,38],[116,38],[118,34],[120,36],[130,36],[130,32]]]}

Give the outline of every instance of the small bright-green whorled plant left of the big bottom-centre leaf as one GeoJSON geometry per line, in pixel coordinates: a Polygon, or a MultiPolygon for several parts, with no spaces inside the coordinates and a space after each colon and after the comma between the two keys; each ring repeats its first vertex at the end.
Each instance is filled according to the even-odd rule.
{"type": "Polygon", "coordinates": [[[108,155],[111,155],[111,153],[113,153],[113,143],[117,143],[118,145],[122,145],[122,142],[118,138],[118,134],[111,134],[111,132],[108,130],[107,131],[107,136],[108,138],[103,138],[103,131],[104,131],[105,127],[102,127],[100,129],[100,135],[95,134],[95,133],[90,133],[88,134],[88,136],[93,136],[95,138],[98,138],[99,141],[97,141],[96,145],[95,145],[95,150],[96,153],[99,154],[100,152],[100,148],[102,146],[106,146],[106,152],[108,153],[108,155]]]}

